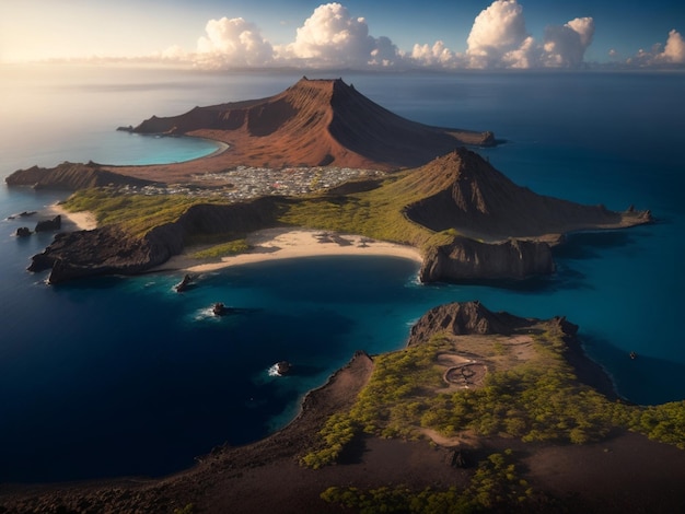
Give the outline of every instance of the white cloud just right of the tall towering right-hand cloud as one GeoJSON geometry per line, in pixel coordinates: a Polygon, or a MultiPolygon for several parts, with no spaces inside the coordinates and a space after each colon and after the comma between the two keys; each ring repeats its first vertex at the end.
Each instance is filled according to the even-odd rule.
{"type": "Polygon", "coordinates": [[[543,65],[553,68],[577,68],[594,36],[594,20],[577,17],[566,25],[545,30],[543,65]]]}

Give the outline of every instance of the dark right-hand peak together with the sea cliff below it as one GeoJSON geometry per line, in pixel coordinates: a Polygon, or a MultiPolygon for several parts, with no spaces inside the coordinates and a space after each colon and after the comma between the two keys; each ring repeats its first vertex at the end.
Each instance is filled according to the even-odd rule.
{"type": "Polygon", "coordinates": [[[394,185],[418,191],[405,217],[434,232],[453,231],[446,244],[429,246],[422,282],[522,279],[555,271],[552,246],[572,231],[650,223],[649,211],[611,211],[537,195],[518,186],[466,149],[438,157],[394,185]]]}

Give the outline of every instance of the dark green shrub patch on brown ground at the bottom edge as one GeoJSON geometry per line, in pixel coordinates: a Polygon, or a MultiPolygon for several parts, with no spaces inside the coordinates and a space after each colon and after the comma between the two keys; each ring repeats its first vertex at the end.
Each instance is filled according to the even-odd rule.
{"type": "Polygon", "coordinates": [[[527,482],[518,475],[510,449],[495,453],[478,465],[471,484],[458,490],[431,488],[414,491],[406,486],[382,487],[369,491],[358,488],[328,488],[321,498],[329,503],[337,503],[355,509],[362,514],[378,512],[410,512],[430,514],[466,514],[492,511],[498,507],[525,505],[535,497],[527,482]]]}

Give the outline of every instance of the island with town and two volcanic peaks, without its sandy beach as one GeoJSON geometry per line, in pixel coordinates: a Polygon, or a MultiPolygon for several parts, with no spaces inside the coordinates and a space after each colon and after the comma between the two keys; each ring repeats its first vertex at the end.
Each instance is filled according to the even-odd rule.
{"type": "Polygon", "coordinates": [[[302,79],[269,98],[152,117],[133,131],[213,138],[228,148],[188,163],[62,163],[9,176],[11,186],[72,188],[77,194],[66,203],[68,210],[91,210],[107,220],[95,231],[58,235],[34,257],[30,269],[51,269],[50,283],[140,273],[183,253],[194,241],[223,238],[225,244],[277,226],[410,245],[422,256],[425,282],[525,278],[554,271],[550,248],[568,232],[652,221],[649,211],[613,212],[516,186],[464,148],[495,144],[491,132],[404,119],[339,79],[302,79]],[[252,171],[255,182],[265,170],[286,175],[302,167],[315,171],[295,180],[300,186],[320,185],[326,170],[333,170],[327,177],[344,180],[326,178],[304,194],[290,192],[294,187],[269,194],[255,187],[251,198],[236,200],[231,180],[240,166],[262,166],[252,171]],[[191,189],[178,194],[179,184],[191,189]],[[121,195],[130,201],[118,202],[121,195]],[[151,209],[156,210],[154,217],[147,214],[151,209]]]}

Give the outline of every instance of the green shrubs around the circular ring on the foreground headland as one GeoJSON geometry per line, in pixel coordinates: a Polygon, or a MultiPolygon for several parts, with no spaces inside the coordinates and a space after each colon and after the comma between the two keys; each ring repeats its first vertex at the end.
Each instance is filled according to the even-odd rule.
{"type": "MultiPolygon", "coordinates": [[[[532,336],[531,358],[519,362],[507,355],[501,338],[489,338],[488,351],[479,350],[489,372],[476,388],[455,389],[443,381],[439,355],[454,351],[446,337],[376,357],[356,404],[326,422],[321,444],[302,464],[335,463],[345,444],[362,433],[418,439],[426,429],[446,437],[472,433],[584,444],[625,428],[685,449],[685,401],[654,407],[611,401],[578,382],[564,355],[562,335],[541,331],[532,336]]],[[[462,350],[468,344],[464,339],[462,350]]]]}

